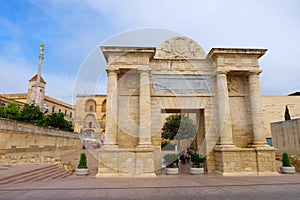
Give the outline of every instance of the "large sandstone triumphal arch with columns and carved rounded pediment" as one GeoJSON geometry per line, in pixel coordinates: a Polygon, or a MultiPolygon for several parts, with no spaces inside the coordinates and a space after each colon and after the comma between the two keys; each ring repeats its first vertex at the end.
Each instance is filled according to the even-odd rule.
{"type": "Polygon", "coordinates": [[[161,119],[197,113],[196,149],[206,170],[276,174],[275,149],[262,132],[259,58],[266,49],[213,48],[189,38],[159,47],[102,46],[108,63],[105,145],[98,177],[155,176],[161,168],[161,119]]]}

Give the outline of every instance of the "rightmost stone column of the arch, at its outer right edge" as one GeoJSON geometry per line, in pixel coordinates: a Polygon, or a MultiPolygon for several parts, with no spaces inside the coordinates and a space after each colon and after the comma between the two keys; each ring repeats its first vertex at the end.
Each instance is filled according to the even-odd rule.
{"type": "Polygon", "coordinates": [[[267,142],[262,132],[262,112],[260,102],[259,74],[261,71],[250,72],[249,97],[253,128],[253,146],[266,146],[267,142]]]}

